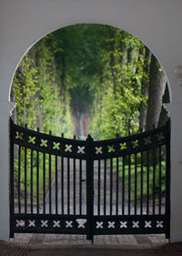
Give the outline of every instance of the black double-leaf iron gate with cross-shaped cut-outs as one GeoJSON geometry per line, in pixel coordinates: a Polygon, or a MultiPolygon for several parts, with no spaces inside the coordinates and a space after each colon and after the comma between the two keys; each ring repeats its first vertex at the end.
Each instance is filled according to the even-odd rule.
{"type": "Polygon", "coordinates": [[[126,138],[58,138],[10,123],[14,233],[166,233],[170,124],[126,138]]]}

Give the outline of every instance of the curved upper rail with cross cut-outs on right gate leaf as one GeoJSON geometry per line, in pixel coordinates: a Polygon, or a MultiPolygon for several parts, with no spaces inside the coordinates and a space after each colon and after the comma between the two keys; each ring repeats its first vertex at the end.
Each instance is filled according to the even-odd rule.
{"type": "Polygon", "coordinates": [[[123,138],[94,141],[94,159],[110,159],[136,154],[162,145],[170,138],[169,123],[161,128],[123,138]]]}

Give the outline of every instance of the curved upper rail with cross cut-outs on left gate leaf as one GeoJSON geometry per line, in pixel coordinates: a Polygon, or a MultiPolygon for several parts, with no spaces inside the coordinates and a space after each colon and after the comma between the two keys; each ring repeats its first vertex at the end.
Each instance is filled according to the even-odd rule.
{"type": "Polygon", "coordinates": [[[12,124],[14,144],[66,158],[86,159],[86,141],[59,138],[12,124]]]}

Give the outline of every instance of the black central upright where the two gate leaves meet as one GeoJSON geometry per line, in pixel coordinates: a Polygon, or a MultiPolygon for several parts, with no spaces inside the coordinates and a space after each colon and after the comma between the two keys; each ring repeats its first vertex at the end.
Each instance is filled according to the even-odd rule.
{"type": "Polygon", "coordinates": [[[87,156],[86,156],[86,215],[87,215],[87,233],[86,239],[93,242],[93,205],[94,205],[94,182],[93,182],[93,170],[94,170],[94,143],[93,138],[88,135],[87,142],[87,156]]]}

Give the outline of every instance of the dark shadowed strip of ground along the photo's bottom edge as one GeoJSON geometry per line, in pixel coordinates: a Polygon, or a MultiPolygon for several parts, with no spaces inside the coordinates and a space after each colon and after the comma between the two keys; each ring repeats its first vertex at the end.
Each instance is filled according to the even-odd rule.
{"type": "Polygon", "coordinates": [[[182,256],[182,243],[141,245],[30,245],[0,241],[0,256],[182,256]]]}

